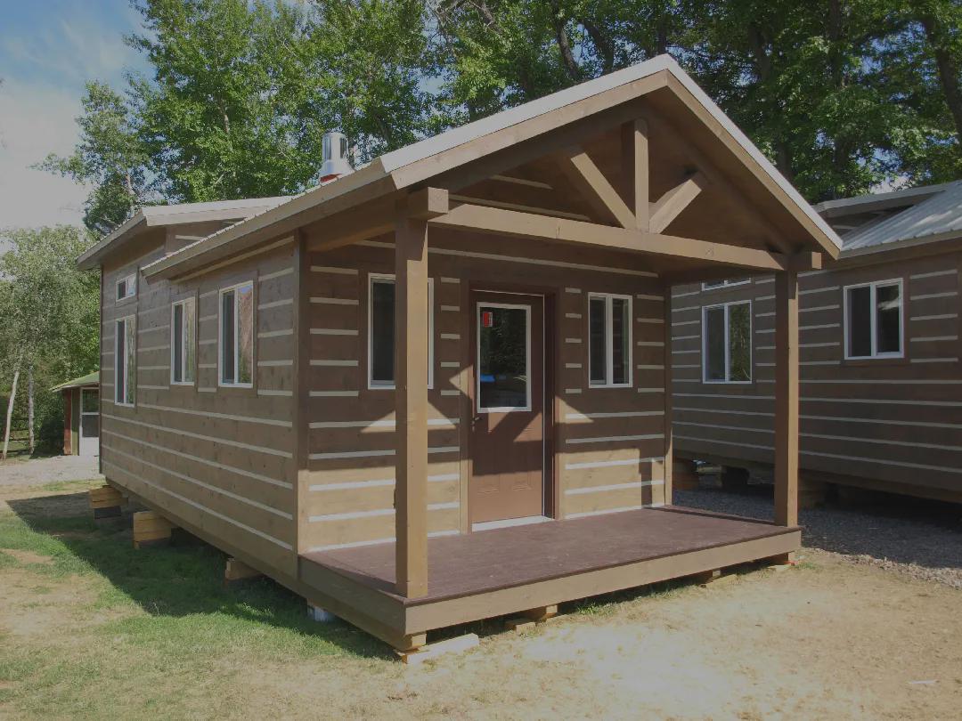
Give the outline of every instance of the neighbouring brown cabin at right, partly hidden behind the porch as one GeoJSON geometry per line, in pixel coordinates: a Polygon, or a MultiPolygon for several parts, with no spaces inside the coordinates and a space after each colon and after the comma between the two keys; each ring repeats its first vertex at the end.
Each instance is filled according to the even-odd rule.
{"type": "MultiPolygon", "coordinates": [[[[803,485],[962,502],[962,181],[817,206],[842,236],[800,274],[803,485]]],[[[762,475],[775,454],[774,277],[674,288],[679,458],[762,475]]]]}

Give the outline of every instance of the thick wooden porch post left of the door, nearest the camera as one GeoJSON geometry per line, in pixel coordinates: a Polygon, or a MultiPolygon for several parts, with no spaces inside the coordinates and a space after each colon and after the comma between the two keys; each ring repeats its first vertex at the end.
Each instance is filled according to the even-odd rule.
{"type": "Polygon", "coordinates": [[[395,579],[416,598],[427,594],[427,222],[406,201],[394,242],[395,579]]]}

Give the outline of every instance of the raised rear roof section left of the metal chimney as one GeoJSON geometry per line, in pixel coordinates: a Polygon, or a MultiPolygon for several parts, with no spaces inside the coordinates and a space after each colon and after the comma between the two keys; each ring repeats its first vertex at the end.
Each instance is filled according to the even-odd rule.
{"type": "Polygon", "coordinates": [[[203,223],[212,220],[241,220],[274,208],[290,198],[291,196],[279,196],[276,198],[219,200],[210,203],[144,206],[78,258],[77,265],[82,270],[96,266],[108,252],[113,251],[127,240],[139,236],[148,228],[203,223]]]}

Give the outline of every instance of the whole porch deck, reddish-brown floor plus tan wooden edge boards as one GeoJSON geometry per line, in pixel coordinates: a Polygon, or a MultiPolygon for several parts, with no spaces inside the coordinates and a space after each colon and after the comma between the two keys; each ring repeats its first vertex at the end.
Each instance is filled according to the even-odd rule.
{"type": "Polygon", "coordinates": [[[797,550],[798,527],[668,506],[428,541],[428,593],[394,590],[394,544],[301,556],[316,603],[394,645],[406,636],[797,550]]]}

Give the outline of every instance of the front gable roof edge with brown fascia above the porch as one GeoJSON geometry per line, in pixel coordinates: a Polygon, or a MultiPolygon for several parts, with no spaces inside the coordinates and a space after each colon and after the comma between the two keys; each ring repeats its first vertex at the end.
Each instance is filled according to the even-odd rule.
{"type": "Polygon", "coordinates": [[[307,190],[150,263],[143,273],[147,278],[176,278],[196,272],[308,223],[373,200],[390,201],[392,195],[440,182],[445,173],[460,172],[470,163],[483,168],[486,159],[503,162],[503,153],[510,152],[512,146],[579,121],[590,121],[597,113],[663,88],[670,88],[791,213],[806,238],[807,250],[838,257],[842,247],[839,236],[695,81],[665,55],[387,153],[349,176],[307,190]]]}

